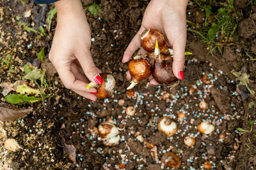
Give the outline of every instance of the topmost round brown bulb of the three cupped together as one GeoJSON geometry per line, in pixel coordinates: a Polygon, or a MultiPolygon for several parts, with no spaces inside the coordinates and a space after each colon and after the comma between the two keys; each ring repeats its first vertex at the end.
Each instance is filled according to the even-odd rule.
{"type": "Polygon", "coordinates": [[[154,52],[156,40],[160,49],[161,47],[166,46],[164,34],[157,29],[145,29],[141,33],[140,38],[142,40],[142,47],[148,52],[154,52]]]}

